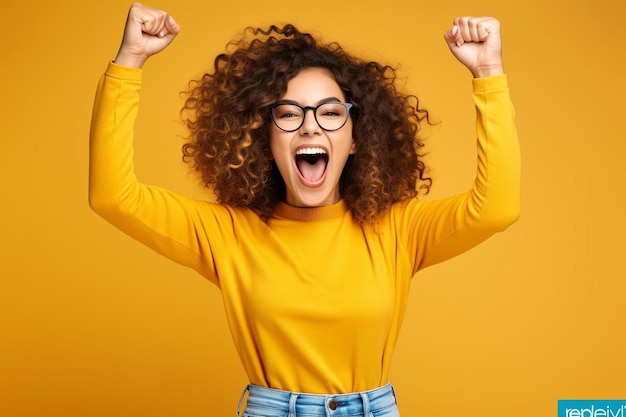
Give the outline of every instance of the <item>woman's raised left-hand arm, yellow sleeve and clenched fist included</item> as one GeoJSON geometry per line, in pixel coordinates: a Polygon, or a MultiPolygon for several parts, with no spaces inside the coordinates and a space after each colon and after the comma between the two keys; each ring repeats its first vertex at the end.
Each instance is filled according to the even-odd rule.
{"type": "Polygon", "coordinates": [[[163,11],[140,4],[131,7],[115,63],[109,64],[96,92],[89,148],[89,204],[129,236],[217,282],[212,259],[222,242],[215,229],[215,216],[224,209],[142,184],[134,173],[133,136],[141,67],[169,45],[179,30],[163,11]]]}

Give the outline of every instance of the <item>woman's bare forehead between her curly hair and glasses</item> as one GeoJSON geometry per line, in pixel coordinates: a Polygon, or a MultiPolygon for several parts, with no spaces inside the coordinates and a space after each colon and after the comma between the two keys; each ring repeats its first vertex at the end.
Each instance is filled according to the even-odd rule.
{"type": "Polygon", "coordinates": [[[326,68],[307,68],[289,80],[282,98],[311,104],[330,97],[345,101],[345,95],[333,74],[326,68]]]}

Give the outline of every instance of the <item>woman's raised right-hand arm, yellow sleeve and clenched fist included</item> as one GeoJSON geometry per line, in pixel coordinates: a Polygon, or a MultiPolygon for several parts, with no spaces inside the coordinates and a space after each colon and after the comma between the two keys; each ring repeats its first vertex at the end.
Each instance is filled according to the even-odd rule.
{"type": "Polygon", "coordinates": [[[415,271],[506,229],[520,210],[520,153],[503,70],[500,23],[491,17],[460,17],[444,37],[474,76],[477,169],[470,191],[407,207],[400,230],[408,233],[404,238],[407,253],[415,256],[415,271]]]}

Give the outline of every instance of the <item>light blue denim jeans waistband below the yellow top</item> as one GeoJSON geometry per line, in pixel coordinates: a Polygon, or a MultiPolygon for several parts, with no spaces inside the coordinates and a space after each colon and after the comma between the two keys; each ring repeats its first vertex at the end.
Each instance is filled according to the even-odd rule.
{"type": "Polygon", "coordinates": [[[248,401],[242,417],[399,417],[391,384],[351,394],[301,394],[248,385],[239,400],[248,401]]]}

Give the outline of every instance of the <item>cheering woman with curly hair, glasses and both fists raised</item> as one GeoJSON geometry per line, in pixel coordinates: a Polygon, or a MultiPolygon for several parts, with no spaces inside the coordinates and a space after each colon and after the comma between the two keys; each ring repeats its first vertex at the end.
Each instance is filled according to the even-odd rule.
{"type": "Polygon", "coordinates": [[[141,68],[180,27],[131,7],[98,86],[90,205],[220,288],[250,379],[244,415],[398,415],[388,372],[412,276],[519,214],[499,27],[463,17],[445,34],[474,76],[479,155],[473,188],[438,201],[417,191],[430,187],[419,154],[428,112],[397,91],[393,68],[291,25],[249,29],[183,108],[184,158],[211,203],[135,179],[141,68]]]}

